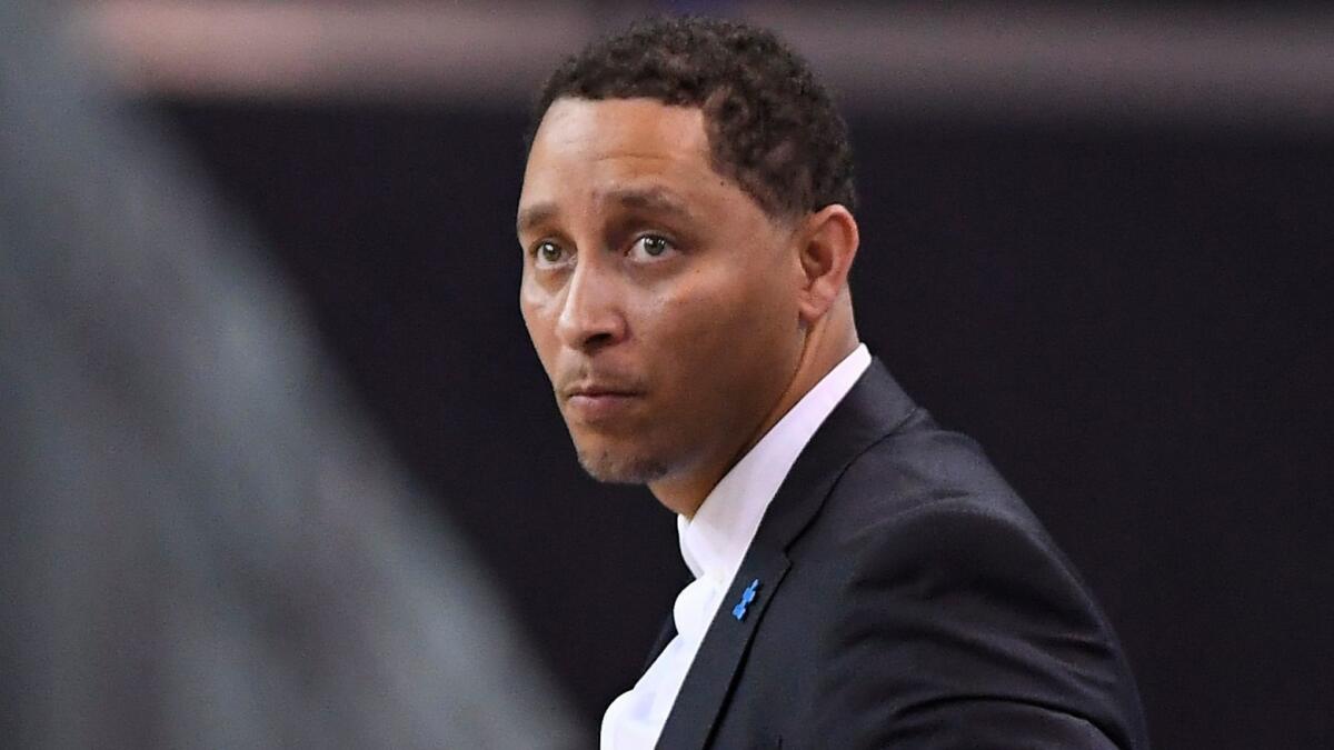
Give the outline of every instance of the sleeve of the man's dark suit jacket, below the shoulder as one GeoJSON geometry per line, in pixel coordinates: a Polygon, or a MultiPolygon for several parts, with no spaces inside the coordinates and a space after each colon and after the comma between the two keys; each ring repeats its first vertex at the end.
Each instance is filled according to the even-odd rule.
{"type": "Polygon", "coordinates": [[[1031,518],[939,500],[868,526],[844,554],[843,605],[822,634],[822,746],[1146,746],[1115,637],[1031,518]]]}

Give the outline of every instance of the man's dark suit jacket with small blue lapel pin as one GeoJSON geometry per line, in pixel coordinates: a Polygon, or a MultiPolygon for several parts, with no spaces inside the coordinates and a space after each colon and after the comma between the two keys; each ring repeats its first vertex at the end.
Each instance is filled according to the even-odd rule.
{"type": "Polygon", "coordinates": [[[875,360],[770,504],[659,741],[706,746],[1149,741],[1070,560],[978,446],[875,360]]]}

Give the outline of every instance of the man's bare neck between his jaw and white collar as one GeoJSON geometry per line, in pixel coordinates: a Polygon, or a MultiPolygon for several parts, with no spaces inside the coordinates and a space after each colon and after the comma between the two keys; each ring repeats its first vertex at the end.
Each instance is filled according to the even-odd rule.
{"type": "Polygon", "coordinates": [[[846,304],[835,306],[807,330],[787,387],[736,450],[692,471],[652,482],[648,490],[671,511],[694,518],[699,506],[704,504],[704,499],[736,462],[744,458],[778,424],[778,420],[802,400],[802,396],[852,354],[858,344],[851,300],[846,300],[846,304]]]}

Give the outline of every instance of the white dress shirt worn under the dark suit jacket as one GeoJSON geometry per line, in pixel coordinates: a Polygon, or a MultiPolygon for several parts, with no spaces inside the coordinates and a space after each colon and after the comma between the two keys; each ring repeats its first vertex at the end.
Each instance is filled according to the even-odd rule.
{"type": "Polygon", "coordinates": [[[815,431],[871,364],[860,344],[755,443],[704,498],[694,518],[676,518],[680,554],[695,581],[676,595],[676,637],[632,689],[602,718],[602,750],[650,749],[658,742],[686,673],[723,595],[731,589],[755,530],[778,487],[815,431]]]}

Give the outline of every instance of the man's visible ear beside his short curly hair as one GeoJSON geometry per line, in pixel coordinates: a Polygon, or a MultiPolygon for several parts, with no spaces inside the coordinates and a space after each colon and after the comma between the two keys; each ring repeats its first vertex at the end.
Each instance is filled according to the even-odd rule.
{"type": "Polygon", "coordinates": [[[856,219],[838,203],[811,214],[804,224],[798,247],[802,264],[799,310],[803,322],[814,323],[828,312],[847,288],[847,272],[856,256],[860,236],[856,219]]]}

